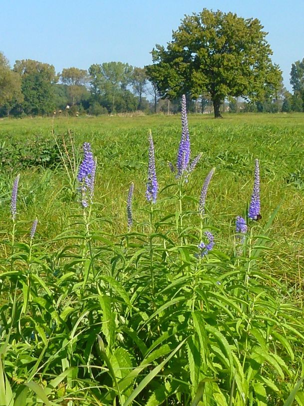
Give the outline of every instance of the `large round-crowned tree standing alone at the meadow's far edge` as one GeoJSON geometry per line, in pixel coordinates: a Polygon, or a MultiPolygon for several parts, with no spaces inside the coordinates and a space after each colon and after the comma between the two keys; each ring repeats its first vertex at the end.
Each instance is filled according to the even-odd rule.
{"type": "Polygon", "coordinates": [[[185,16],[167,48],[153,48],[148,77],[163,97],[209,94],[215,117],[220,117],[225,97],[255,100],[279,85],[281,71],[272,63],[266,35],[256,18],[205,8],[185,16]]]}

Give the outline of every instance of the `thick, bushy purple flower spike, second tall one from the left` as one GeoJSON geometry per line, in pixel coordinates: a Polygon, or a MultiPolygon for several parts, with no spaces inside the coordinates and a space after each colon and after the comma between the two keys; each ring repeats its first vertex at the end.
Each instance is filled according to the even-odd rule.
{"type": "Polygon", "coordinates": [[[81,193],[81,203],[83,207],[87,207],[88,197],[90,203],[93,199],[94,193],[94,178],[96,172],[96,160],[94,160],[89,142],[83,144],[83,159],[80,163],[77,180],[79,182],[78,190],[81,193]]]}

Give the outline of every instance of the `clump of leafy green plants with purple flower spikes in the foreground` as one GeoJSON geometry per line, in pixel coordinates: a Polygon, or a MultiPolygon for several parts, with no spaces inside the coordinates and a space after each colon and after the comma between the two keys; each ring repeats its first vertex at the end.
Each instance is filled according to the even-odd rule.
{"type": "MultiPolygon", "coordinates": [[[[187,128],[185,117],[184,109],[187,128]]],[[[184,134],[181,162],[188,160],[189,168],[190,141],[184,134]]],[[[202,228],[213,168],[201,191],[199,237],[190,221],[180,221],[176,232],[175,222],[185,214],[181,206],[152,223],[158,182],[149,132],[150,228],[128,234],[124,250],[121,235],[105,233],[100,218],[88,221],[96,160],[89,143],[83,150],[77,181],[85,233],[77,220],[55,238],[33,244],[35,219],[29,244],[15,244],[13,255],[0,261],[1,300],[6,300],[0,306],[0,404],[291,406],[296,398],[303,406],[303,309],[263,267],[277,211],[260,235],[252,227],[247,256],[236,260],[219,242],[213,249],[213,234],[202,228]],[[189,243],[181,244],[186,232],[189,243]]],[[[258,169],[256,160],[250,208],[256,219],[258,169]]],[[[11,198],[13,227],[18,179],[11,198]]],[[[128,230],[133,190],[131,183],[128,230]]],[[[236,232],[240,238],[247,232],[241,216],[236,232]]],[[[4,248],[8,243],[3,239],[4,248]]]]}

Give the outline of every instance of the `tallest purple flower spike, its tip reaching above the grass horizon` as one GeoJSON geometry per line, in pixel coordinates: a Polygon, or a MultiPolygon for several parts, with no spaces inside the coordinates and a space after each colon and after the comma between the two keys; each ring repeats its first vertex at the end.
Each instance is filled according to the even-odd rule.
{"type": "Polygon", "coordinates": [[[177,162],[176,162],[176,177],[181,177],[187,170],[190,160],[190,135],[188,128],[188,118],[186,110],[186,96],[182,96],[182,136],[178,148],[177,162]]]}

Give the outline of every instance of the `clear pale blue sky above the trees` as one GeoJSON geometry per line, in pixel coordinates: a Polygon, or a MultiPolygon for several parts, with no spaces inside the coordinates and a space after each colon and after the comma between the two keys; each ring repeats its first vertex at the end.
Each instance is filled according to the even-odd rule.
{"type": "Polygon", "coordinates": [[[144,66],[184,14],[204,7],[259,18],[291,88],[291,65],[304,57],[304,0],[0,0],[0,51],[11,65],[36,59],[57,72],[114,60],[144,66]]]}

